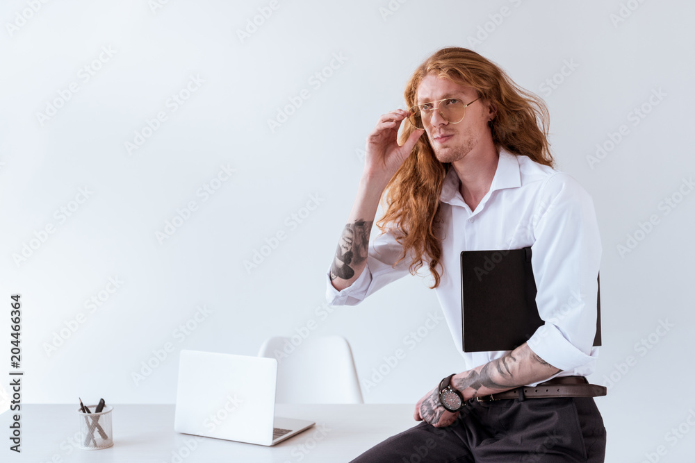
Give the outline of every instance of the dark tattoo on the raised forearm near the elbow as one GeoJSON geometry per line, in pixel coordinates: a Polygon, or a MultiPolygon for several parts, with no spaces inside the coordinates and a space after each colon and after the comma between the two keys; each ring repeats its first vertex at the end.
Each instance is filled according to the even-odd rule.
{"type": "Polygon", "coordinates": [[[367,259],[369,235],[373,223],[373,220],[356,220],[352,224],[345,225],[331,266],[331,280],[336,278],[350,280],[354,276],[355,269],[367,259]]]}

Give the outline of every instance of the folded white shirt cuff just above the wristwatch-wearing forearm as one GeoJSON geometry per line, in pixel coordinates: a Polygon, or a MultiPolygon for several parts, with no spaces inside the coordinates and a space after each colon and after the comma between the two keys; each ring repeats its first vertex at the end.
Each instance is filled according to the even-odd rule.
{"type": "Polygon", "coordinates": [[[563,371],[581,367],[594,360],[594,357],[580,351],[565,339],[557,326],[549,323],[539,326],[526,344],[543,361],[563,371]]]}

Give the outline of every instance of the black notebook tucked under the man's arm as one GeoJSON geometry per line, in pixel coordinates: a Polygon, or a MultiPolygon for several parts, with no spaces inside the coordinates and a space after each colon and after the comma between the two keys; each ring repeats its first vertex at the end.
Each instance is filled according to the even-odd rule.
{"type": "MultiPolygon", "coordinates": [[[[600,346],[600,288],[596,299],[600,346]]],[[[530,247],[461,252],[461,323],[464,352],[512,351],[528,341],[543,324],[530,247]]]]}

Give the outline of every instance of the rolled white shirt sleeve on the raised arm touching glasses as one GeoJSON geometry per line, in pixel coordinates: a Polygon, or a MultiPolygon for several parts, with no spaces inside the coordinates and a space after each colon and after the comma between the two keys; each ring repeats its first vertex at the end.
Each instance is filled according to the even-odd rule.
{"type": "Polygon", "coordinates": [[[370,294],[409,273],[411,260],[406,258],[393,267],[403,247],[393,233],[380,233],[369,245],[367,264],[357,280],[342,291],[331,283],[330,266],[326,273],[326,300],[329,305],[357,305],[370,294]]]}

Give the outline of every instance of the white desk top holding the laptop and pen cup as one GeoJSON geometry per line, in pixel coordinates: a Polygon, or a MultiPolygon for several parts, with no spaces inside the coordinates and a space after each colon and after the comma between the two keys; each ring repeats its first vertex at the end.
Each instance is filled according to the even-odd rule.
{"type": "Polygon", "coordinates": [[[77,405],[22,405],[22,453],[10,451],[10,413],[0,415],[3,462],[348,462],[417,424],[407,405],[283,405],[275,414],[316,425],[273,447],[174,431],[174,405],[113,405],[113,447],[77,447],[77,405]],[[186,446],[189,444],[193,449],[186,446]]]}

